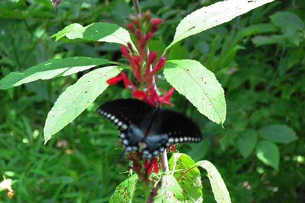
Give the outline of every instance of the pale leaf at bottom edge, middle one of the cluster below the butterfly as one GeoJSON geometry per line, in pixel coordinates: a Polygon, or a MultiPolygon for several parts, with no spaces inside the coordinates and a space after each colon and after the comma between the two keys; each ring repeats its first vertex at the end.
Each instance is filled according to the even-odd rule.
{"type": "MultiPolygon", "coordinates": [[[[176,179],[172,175],[162,176],[161,188],[158,190],[158,195],[155,196],[154,202],[163,202],[163,203],[182,203],[182,189],[176,179]]],[[[158,184],[157,182],[155,186],[158,184]]]]}

